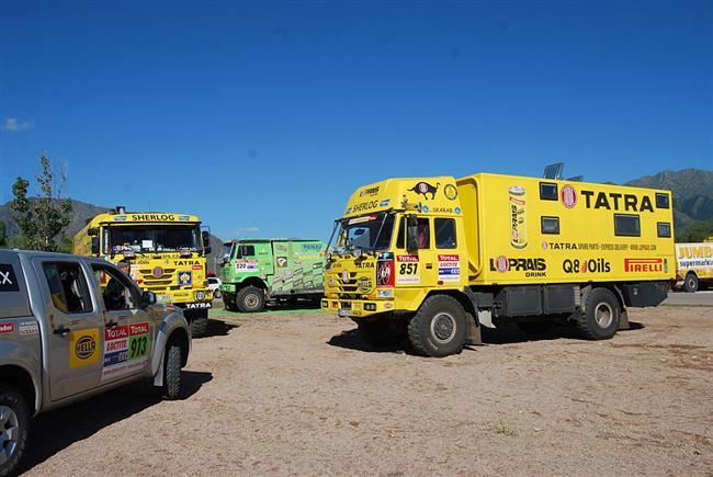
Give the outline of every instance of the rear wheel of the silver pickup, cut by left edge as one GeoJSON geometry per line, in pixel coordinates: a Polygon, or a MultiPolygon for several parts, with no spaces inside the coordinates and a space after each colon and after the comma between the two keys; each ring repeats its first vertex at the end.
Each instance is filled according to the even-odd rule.
{"type": "Polygon", "coordinates": [[[14,475],[27,446],[30,411],[20,390],[0,383],[0,476],[14,475]]]}

